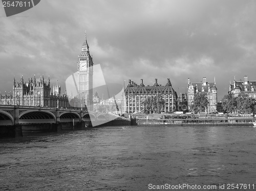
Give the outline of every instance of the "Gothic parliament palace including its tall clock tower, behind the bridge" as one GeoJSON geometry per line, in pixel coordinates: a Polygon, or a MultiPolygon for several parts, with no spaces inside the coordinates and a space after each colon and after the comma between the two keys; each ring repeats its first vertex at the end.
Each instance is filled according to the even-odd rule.
{"type": "MultiPolygon", "coordinates": [[[[77,96],[61,94],[60,85],[53,85],[51,88],[50,78],[46,80],[44,76],[36,80],[36,77],[20,82],[13,80],[13,92],[0,95],[1,105],[20,105],[37,107],[61,107],[74,108],[85,107],[93,109],[93,59],[89,52],[86,34],[82,44],[81,53],[77,61],[77,96]],[[82,103],[82,105],[81,105],[82,103]]],[[[75,94],[75,93],[74,93],[75,94]]]]}

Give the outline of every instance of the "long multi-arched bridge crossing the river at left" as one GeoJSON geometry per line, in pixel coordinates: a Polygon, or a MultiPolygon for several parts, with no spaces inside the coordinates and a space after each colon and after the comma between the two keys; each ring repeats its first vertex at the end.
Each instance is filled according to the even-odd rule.
{"type": "Polygon", "coordinates": [[[83,129],[102,124],[131,125],[131,120],[114,114],[88,112],[82,108],[0,105],[0,136],[83,129]]]}

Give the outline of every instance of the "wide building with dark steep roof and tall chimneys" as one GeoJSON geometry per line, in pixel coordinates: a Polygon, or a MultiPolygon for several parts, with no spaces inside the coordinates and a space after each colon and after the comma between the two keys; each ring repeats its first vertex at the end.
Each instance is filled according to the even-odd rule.
{"type": "Polygon", "coordinates": [[[143,84],[141,79],[140,85],[129,80],[129,84],[124,90],[123,95],[123,112],[134,113],[143,112],[143,102],[148,96],[160,95],[164,99],[165,107],[162,112],[176,111],[177,108],[177,93],[173,89],[169,78],[165,86],[159,85],[157,79],[153,86],[143,84]]]}

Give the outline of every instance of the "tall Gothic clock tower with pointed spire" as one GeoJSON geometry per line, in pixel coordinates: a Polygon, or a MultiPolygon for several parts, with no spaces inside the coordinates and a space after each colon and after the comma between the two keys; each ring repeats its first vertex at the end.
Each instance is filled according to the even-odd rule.
{"type": "Polygon", "coordinates": [[[78,74],[78,99],[87,106],[89,111],[93,111],[93,58],[89,52],[89,45],[84,35],[81,54],[77,61],[78,74]]]}

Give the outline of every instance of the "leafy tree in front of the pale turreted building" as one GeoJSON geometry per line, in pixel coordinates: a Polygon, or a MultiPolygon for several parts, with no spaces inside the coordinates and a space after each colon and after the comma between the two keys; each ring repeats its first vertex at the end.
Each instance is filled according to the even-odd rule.
{"type": "Polygon", "coordinates": [[[209,101],[206,92],[199,92],[195,94],[193,104],[190,106],[190,109],[194,111],[194,113],[205,112],[208,108],[209,101]]]}

